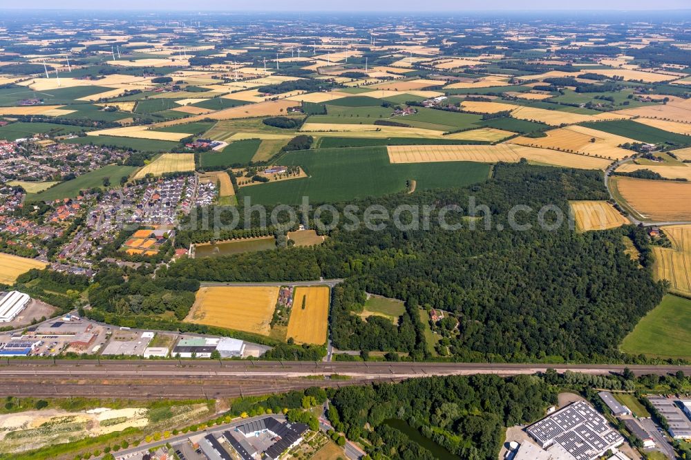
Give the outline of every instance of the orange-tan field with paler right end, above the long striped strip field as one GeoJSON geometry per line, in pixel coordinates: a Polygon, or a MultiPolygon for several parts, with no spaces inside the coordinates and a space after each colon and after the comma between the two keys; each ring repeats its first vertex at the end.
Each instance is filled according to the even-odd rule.
{"type": "Polygon", "coordinates": [[[620,160],[631,151],[619,148],[625,142],[635,142],[627,137],[604,133],[585,126],[566,126],[545,133],[547,137],[515,137],[508,142],[534,147],[561,149],[585,155],[599,156],[609,160],[620,160]],[[593,142],[594,141],[594,142],[593,142]]]}

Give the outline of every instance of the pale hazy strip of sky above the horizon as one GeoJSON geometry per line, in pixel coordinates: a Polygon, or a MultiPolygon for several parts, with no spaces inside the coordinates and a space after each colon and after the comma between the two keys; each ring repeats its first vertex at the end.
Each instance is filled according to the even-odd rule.
{"type": "Polygon", "coordinates": [[[672,10],[691,8],[688,0],[2,0],[2,9],[79,10],[242,10],[242,11],[464,11],[464,10],[672,10]]]}

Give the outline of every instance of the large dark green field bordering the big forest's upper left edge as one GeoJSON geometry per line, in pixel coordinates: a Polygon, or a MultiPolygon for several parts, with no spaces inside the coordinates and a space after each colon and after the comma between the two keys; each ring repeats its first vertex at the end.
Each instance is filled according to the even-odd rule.
{"type": "Polygon", "coordinates": [[[406,190],[449,188],[482,182],[489,164],[471,162],[390,164],[386,147],[332,148],[290,152],[280,164],[302,166],[310,177],[260,184],[240,189],[238,198],[249,196],[258,204],[337,202],[381,196],[406,190]]]}

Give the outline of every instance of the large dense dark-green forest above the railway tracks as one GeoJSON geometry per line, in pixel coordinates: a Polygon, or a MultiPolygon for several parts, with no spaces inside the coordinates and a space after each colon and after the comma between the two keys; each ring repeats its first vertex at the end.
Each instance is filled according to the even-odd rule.
{"type": "MultiPolygon", "coordinates": [[[[357,202],[360,210],[372,204],[389,211],[404,204],[435,206],[427,230],[386,225],[349,231],[341,223],[314,249],[182,260],[162,274],[214,281],[347,278],[333,291],[330,318],[332,341],[340,349],[429,358],[418,312],[432,307],[459,318],[459,334],[448,347],[454,358],[618,359],[623,355],[616,345],[659,303],[663,287],[624,253],[628,230],[577,233],[566,222],[551,230],[538,223],[542,206],[567,215],[567,200],[604,199],[596,171],[498,164],[485,184],[357,202]],[[449,223],[464,228],[442,229],[437,211],[446,204],[466,208],[471,197],[486,206],[491,227],[484,228],[484,219],[468,219],[466,209],[447,215],[449,223]],[[518,214],[520,224],[531,225],[527,231],[510,229],[508,216],[516,205],[533,209],[518,214]],[[404,300],[406,314],[397,325],[359,318],[352,313],[361,311],[365,291],[404,300]]],[[[545,218],[549,223],[556,214],[545,218]]]]}

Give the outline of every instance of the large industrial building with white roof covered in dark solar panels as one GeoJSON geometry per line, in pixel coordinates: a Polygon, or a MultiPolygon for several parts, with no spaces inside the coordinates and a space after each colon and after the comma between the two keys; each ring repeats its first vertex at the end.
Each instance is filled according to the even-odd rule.
{"type": "Polygon", "coordinates": [[[624,442],[605,417],[585,401],[567,405],[526,431],[548,452],[559,446],[576,460],[595,460],[624,442]]]}

